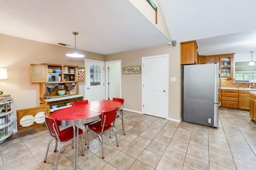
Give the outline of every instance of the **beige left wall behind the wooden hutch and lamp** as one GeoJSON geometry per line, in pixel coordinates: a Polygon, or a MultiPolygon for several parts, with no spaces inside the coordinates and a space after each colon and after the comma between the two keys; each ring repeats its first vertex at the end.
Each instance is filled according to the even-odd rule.
{"type": "MultiPolygon", "coordinates": [[[[40,106],[39,84],[30,83],[30,64],[67,64],[84,67],[84,58],[66,57],[71,48],[0,34],[0,68],[7,68],[8,79],[0,80],[0,90],[14,98],[16,109],[40,106]]],[[[85,52],[87,59],[104,60],[104,55],[85,52]]],[[[79,84],[84,95],[84,82],[79,84]]]]}

